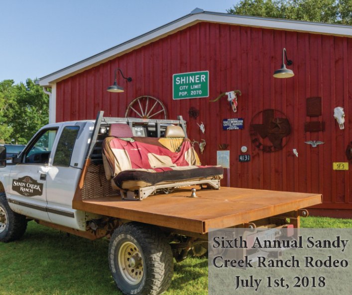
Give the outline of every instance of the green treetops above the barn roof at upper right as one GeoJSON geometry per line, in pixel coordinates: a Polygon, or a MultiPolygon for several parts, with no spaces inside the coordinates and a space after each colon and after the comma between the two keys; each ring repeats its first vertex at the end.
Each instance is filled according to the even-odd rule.
{"type": "Polygon", "coordinates": [[[228,13],[352,24],[352,0],[241,0],[228,13]]]}

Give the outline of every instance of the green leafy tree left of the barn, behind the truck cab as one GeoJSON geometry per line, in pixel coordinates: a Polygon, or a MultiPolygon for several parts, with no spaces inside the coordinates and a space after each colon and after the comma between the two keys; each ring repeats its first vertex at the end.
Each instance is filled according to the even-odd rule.
{"type": "Polygon", "coordinates": [[[49,97],[33,80],[0,82],[0,142],[26,144],[48,123],[49,97]]]}

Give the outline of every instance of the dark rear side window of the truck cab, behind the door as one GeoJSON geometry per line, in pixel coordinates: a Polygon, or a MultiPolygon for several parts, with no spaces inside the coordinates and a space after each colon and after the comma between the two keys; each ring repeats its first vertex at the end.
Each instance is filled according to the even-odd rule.
{"type": "Polygon", "coordinates": [[[67,126],[64,128],[57,144],[54,166],[70,166],[72,151],[79,129],[78,126],[67,126]]]}

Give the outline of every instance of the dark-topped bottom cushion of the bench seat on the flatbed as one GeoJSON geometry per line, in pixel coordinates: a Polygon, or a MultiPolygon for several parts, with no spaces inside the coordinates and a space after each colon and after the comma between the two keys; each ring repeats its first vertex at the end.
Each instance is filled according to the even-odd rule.
{"type": "Polygon", "coordinates": [[[221,166],[181,166],[153,169],[131,169],[119,172],[113,181],[117,187],[136,190],[150,185],[181,182],[186,180],[222,179],[221,166]]]}

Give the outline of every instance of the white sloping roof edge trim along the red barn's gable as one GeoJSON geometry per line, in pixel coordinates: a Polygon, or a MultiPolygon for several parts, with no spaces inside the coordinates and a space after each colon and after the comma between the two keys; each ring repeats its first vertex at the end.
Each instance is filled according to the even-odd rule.
{"type": "Polygon", "coordinates": [[[134,47],[141,46],[144,43],[148,43],[148,41],[152,42],[154,39],[166,36],[167,34],[173,33],[183,27],[190,26],[199,21],[352,37],[352,26],[349,25],[234,15],[195,9],[190,14],[151,30],[143,35],[130,39],[113,48],[105,50],[52,74],[43,76],[39,79],[39,84],[42,86],[48,86],[50,83],[62,79],[62,77],[82,72],[85,68],[88,69],[94,65],[102,63],[103,61],[112,59],[121,52],[132,50],[134,47]]]}

